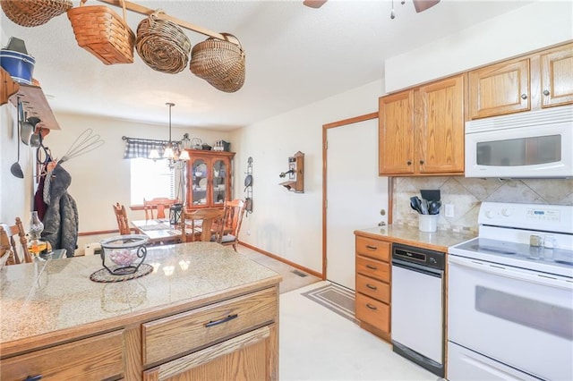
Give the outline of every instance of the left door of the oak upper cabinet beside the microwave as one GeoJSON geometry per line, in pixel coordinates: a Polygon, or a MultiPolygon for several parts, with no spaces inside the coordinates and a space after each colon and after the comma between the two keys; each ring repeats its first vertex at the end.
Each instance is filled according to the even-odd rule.
{"type": "Polygon", "coordinates": [[[379,101],[379,172],[414,173],[414,91],[404,91],[379,101]]]}

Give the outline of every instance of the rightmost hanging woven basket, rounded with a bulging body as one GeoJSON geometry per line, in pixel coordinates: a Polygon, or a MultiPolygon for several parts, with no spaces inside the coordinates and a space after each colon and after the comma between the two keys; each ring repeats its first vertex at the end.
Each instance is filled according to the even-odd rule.
{"type": "Polygon", "coordinates": [[[215,89],[232,93],[244,84],[244,50],[235,36],[221,34],[227,40],[207,38],[192,48],[189,69],[215,89]]]}

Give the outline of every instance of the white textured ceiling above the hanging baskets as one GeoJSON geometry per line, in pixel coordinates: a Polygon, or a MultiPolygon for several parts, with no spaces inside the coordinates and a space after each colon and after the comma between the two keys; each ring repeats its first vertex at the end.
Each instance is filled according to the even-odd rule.
{"type": "MultiPolygon", "coordinates": [[[[246,53],[244,87],[221,92],[188,67],[176,74],[156,72],[137,52],[132,64],[105,65],[77,46],[65,14],[25,28],[2,13],[2,47],[11,36],[25,41],[36,58],[34,78],[56,113],[163,124],[168,120],[165,104],[174,102],[174,126],[225,131],[380,80],[388,57],[532,3],[441,0],[415,13],[411,0],[396,0],[396,19],[390,20],[390,0],[329,0],[320,9],[306,7],[302,0],[134,2],[238,37],[246,53]]],[[[112,8],[121,14],[120,8],[112,8]]],[[[144,17],[127,14],[134,31],[144,17]]],[[[206,38],[185,33],[192,45],[206,38]]]]}

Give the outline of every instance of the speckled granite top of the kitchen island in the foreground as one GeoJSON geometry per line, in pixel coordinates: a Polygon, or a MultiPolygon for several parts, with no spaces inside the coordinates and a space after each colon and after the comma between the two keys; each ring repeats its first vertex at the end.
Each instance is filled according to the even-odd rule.
{"type": "Polygon", "coordinates": [[[0,344],[281,279],[268,267],[214,242],[151,247],[144,263],[153,266],[152,273],[115,283],[90,280],[103,268],[99,256],[2,268],[0,344]]]}

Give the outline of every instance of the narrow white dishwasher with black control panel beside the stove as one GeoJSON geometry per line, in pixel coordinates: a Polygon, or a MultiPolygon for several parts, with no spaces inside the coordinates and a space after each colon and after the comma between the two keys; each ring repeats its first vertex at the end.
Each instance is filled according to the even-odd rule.
{"type": "Polygon", "coordinates": [[[392,245],[392,347],[444,376],[444,258],[440,251],[392,245]]]}

